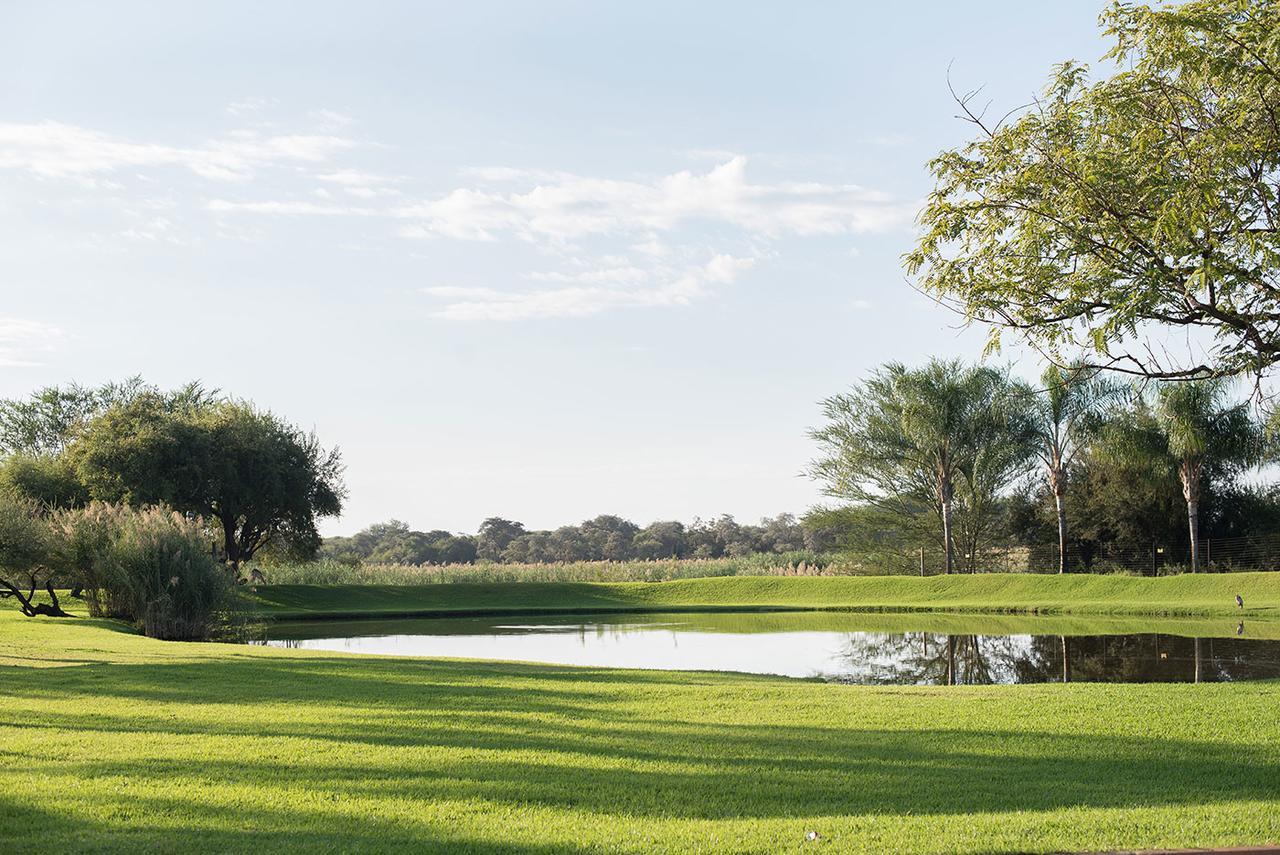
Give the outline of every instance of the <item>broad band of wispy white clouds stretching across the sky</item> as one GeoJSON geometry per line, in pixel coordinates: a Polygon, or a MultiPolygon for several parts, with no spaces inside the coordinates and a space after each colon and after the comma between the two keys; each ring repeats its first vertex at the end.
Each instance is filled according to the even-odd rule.
{"type": "MultiPolygon", "coordinates": [[[[239,116],[271,106],[246,99],[228,111],[239,116]]],[[[321,132],[282,133],[264,123],[196,145],[140,142],[59,122],[0,123],[0,172],[97,188],[113,202],[133,192],[142,197],[131,206],[138,210],[164,187],[163,216],[131,214],[136,221],[114,232],[134,246],[191,244],[200,238],[189,230],[198,228],[214,239],[261,241],[265,230],[256,224],[270,218],[325,218],[362,220],[370,237],[380,225],[390,252],[397,239],[511,246],[477,253],[477,269],[502,268],[503,259],[527,256],[529,247],[559,261],[515,274],[506,265],[497,287],[420,288],[438,301],[434,314],[448,320],[687,305],[781,255],[787,242],[901,229],[915,210],[858,184],[755,180],[745,156],[723,151],[703,152],[716,159],[708,168],[653,177],[468,166],[456,172],[452,189],[415,193],[421,177],[365,169],[360,160],[367,157],[355,150],[367,155],[379,147],[335,136],[353,119],[326,110],[310,115],[321,132]],[[169,180],[174,173],[186,179],[169,180]]]]}

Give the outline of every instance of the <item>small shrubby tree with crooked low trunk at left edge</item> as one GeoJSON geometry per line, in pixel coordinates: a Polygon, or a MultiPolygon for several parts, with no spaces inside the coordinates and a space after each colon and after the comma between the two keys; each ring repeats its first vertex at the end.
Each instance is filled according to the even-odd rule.
{"type": "Polygon", "coordinates": [[[17,599],[27,617],[68,617],[54,590],[55,573],[49,568],[50,548],[49,525],[41,517],[40,506],[31,499],[0,493],[0,599],[17,599]],[[40,587],[47,593],[49,603],[35,602],[40,587]]]}

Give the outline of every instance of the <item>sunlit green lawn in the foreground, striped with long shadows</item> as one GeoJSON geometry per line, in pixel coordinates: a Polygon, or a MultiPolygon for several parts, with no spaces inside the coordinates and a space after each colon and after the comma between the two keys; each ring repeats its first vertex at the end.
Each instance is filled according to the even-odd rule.
{"type": "Polygon", "coordinates": [[[161,643],[3,608],[0,851],[1277,842],[1277,709],[1276,682],[856,687],[161,643]]]}

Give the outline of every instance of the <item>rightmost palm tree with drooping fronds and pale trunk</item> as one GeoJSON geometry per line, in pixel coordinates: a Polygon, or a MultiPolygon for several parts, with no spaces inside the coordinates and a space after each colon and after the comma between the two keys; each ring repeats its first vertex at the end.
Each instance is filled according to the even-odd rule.
{"type": "Polygon", "coordinates": [[[1164,383],[1111,431],[1107,452],[1121,461],[1172,471],[1187,503],[1190,570],[1199,570],[1201,500],[1206,483],[1238,475],[1266,456],[1266,434],[1248,402],[1231,403],[1224,379],[1164,383]]]}

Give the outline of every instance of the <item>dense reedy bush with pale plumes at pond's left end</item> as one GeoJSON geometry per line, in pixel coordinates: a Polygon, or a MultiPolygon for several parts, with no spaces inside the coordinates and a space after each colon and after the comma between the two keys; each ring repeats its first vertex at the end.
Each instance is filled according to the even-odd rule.
{"type": "Polygon", "coordinates": [[[230,579],[197,520],[168,508],[95,502],[55,515],[60,563],[84,586],[90,614],[129,621],[152,639],[209,639],[234,611],[230,579]]]}

